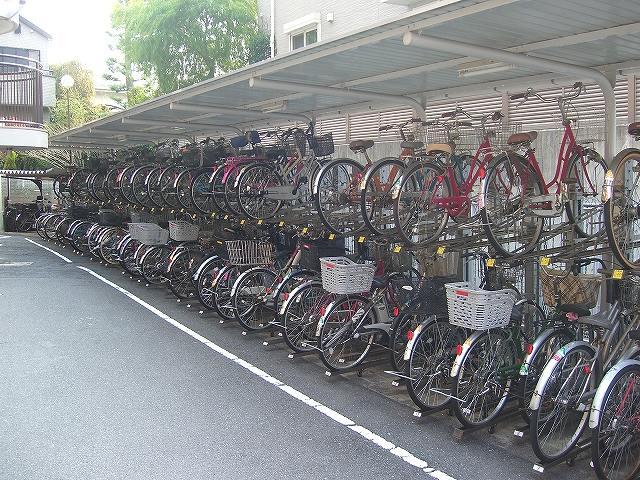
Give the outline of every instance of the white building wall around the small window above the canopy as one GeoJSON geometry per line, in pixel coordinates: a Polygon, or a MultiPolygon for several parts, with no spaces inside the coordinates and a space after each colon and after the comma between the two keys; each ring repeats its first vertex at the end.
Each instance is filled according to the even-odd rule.
{"type": "MultiPolygon", "coordinates": [[[[352,30],[367,27],[408,11],[408,7],[381,3],[380,0],[274,0],[275,37],[278,54],[287,53],[289,34],[284,26],[306,15],[319,14],[320,40],[344,35],[352,30]],[[327,21],[333,13],[334,20],[327,21]]],[[[270,25],[271,0],[258,0],[260,15],[265,25],[270,25]]]]}

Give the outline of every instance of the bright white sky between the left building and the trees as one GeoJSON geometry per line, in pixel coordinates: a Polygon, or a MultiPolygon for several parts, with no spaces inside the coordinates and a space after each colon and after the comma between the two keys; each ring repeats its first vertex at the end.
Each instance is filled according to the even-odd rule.
{"type": "Polygon", "coordinates": [[[115,0],[27,0],[21,15],[48,32],[49,63],[80,62],[94,73],[96,86],[111,56],[111,9],[115,0]]]}

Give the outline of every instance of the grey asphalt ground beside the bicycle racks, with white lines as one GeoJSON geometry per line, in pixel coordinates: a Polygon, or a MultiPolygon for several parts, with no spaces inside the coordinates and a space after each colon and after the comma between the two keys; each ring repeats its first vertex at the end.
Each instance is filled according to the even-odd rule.
{"type": "Polygon", "coordinates": [[[0,479],[595,478],[585,457],[533,472],[517,421],[456,441],[454,418],[413,417],[382,368],[326,377],[27,238],[70,262],[0,234],[0,479]]]}

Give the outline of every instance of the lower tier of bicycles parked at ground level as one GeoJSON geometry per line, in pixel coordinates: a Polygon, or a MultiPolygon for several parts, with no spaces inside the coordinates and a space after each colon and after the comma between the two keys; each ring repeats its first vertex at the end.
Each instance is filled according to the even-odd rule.
{"type": "Polygon", "coordinates": [[[223,242],[184,221],[166,226],[37,221],[43,238],[197,297],[246,331],[278,332],[329,372],[386,357],[425,414],[449,408],[477,428],[514,408],[543,465],[587,445],[599,478],[640,474],[636,277],[619,279],[599,258],[536,265],[543,307],[520,293],[532,267],[523,260],[416,253],[399,265],[375,242],[347,251],[342,241],[248,225],[223,242]],[[594,266],[600,275],[585,273],[594,266]],[[478,286],[461,281],[471,268],[478,286]]]}

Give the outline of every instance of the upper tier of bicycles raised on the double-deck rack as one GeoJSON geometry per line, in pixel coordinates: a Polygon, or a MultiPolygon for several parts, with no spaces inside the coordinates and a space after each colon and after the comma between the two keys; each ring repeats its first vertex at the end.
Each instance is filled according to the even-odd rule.
{"type": "MultiPolygon", "coordinates": [[[[331,134],[316,136],[310,124],[124,152],[114,164],[59,180],[56,191],[154,212],[286,221],[343,237],[366,233],[413,248],[484,239],[500,257],[535,252],[550,238],[608,239],[617,262],[636,269],[640,154],[621,152],[607,173],[594,149],[598,139],[585,133],[572,107],[583,92],[577,83],[554,99],[532,89],[512,97],[558,104],[563,137],[552,179],[536,158],[537,132],[521,132],[499,112],[472,117],[457,109],[435,121],[381,127],[399,132],[401,151],[375,162],[372,140],[349,145],[361,159],[333,158],[331,134]]],[[[638,138],[640,125],[629,133],[638,138]]]]}

